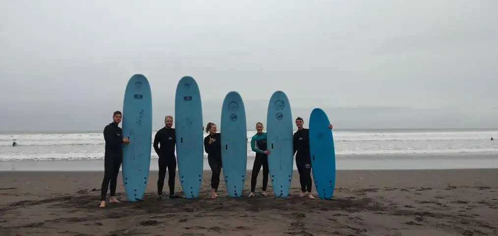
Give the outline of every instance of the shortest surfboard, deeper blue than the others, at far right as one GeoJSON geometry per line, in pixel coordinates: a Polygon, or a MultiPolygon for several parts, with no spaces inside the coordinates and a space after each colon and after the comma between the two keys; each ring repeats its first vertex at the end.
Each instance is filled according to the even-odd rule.
{"type": "Polygon", "coordinates": [[[336,185],[336,152],[327,114],[315,108],[309,122],[311,167],[318,197],[331,199],[336,185]]]}

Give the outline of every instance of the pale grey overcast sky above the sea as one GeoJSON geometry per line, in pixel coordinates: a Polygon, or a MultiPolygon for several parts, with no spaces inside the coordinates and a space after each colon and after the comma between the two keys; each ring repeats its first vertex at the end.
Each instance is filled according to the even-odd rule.
{"type": "Polygon", "coordinates": [[[498,127],[497,0],[3,0],[0,130],[100,130],[145,75],[154,129],[184,75],[204,123],[275,90],[337,128],[498,127]]]}

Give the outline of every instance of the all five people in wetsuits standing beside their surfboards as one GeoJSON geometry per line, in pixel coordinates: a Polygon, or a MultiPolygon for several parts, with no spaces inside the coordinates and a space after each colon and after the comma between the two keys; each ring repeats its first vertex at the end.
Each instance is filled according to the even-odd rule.
{"type": "MultiPolygon", "coordinates": [[[[119,203],[116,199],[116,186],[120,170],[123,162],[122,144],[128,143],[129,140],[123,137],[123,130],[118,126],[122,120],[122,113],[116,111],[113,114],[113,122],[104,128],[105,154],[104,154],[104,180],[101,188],[101,204],[100,208],[106,206],[107,190],[110,188],[109,202],[119,203]]],[[[309,148],[309,129],[304,128],[303,118],[296,118],[297,131],[293,135],[293,155],[296,156],[296,166],[299,172],[299,182],[301,184],[300,197],[307,196],[314,199],[311,193],[311,157],[309,148]]],[[[159,177],[157,180],[157,195],[158,199],[163,198],[164,179],[166,170],[168,171],[168,187],[169,198],[179,198],[175,193],[175,176],[176,176],[176,156],[175,156],[175,129],[173,126],[173,117],[166,116],[164,118],[164,127],[159,129],[153,141],[154,151],[157,153],[159,177]]],[[[332,129],[332,124],[328,128],[332,129]]],[[[202,127],[204,130],[204,127],[202,127]]],[[[204,150],[208,153],[208,163],[211,168],[211,197],[218,197],[218,186],[220,185],[220,175],[223,168],[221,159],[221,133],[217,132],[216,124],[209,122],[206,125],[206,133],[209,133],[204,138],[204,150]]],[[[256,153],[254,164],[252,166],[252,175],[250,182],[249,197],[255,195],[257,175],[263,169],[263,185],[261,195],[267,196],[266,187],[268,185],[268,154],[270,150],[266,147],[266,132],[263,132],[263,124],[256,123],[256,134],[250,141],[251,150],[256,153]]]]}

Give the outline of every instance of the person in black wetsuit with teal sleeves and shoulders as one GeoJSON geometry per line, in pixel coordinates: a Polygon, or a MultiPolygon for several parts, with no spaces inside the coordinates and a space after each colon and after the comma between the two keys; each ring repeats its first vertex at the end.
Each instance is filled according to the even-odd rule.
{"type": "Polygon", "coordinates": [[[263,123],[256,123],[256,131],[256,134],[254,134],[250,140],[250,148],[256,153],[256,157],[254,158],[254,164],[252,165],[249,197],[254,196],[257,175],[261,170],[261,166],[263,167],[263,187],[261,195],[268,196],[266,194],[266,186],[268,185],[268,154],[270,153],[270,150],[266,149],[266,132],[263,132],[263,123]]]}

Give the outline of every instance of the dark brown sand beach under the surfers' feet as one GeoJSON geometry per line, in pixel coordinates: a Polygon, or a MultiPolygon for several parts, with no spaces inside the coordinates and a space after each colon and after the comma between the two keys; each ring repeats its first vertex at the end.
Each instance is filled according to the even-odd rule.
{"type": "Polygon", "coordinates": [[[498,235],[498,169],[338,171],[332,201],[298,197],[297,173],[287,199],[232,199],[223,179],[209,199],[207,172],[199,199],[157,201],[156,180],[146,201],[99,209],[102,172],[0,172],[0,235],[498,235]]]}

